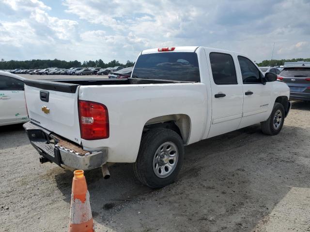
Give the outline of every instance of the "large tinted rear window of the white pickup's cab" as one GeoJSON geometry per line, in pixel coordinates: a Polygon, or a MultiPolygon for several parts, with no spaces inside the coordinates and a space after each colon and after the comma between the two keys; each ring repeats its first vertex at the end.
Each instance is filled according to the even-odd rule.
{"type": "Polygon", "coordinates": [[[132,77],[199,82],[197,54],[165,52],[141,55],[136,62],[132,77]]]}

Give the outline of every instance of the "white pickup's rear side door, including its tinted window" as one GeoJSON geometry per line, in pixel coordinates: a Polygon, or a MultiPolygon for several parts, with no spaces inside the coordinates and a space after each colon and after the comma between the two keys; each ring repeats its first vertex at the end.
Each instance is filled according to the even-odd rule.
{"type": "Polygon", "coordinates": [[[242,117],[243,92],[237,79],[233,54],[210,52],[208,55],[212,88],[209,138],[238,128],[242,117]]]}

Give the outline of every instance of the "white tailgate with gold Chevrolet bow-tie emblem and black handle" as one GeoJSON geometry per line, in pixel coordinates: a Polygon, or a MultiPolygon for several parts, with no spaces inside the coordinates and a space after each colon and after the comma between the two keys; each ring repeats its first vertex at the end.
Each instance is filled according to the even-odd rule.
{"type": "Polygon", "coordinates": [[[25,82],[30,120],[48,131],[80,144],[78,86],[63,88],[53,82],[48,85],[31,83],[25,82]]]}

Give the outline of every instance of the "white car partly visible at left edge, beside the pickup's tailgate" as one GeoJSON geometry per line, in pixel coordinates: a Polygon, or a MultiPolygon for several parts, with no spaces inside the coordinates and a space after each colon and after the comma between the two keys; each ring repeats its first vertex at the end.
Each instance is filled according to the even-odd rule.
{"type": "Polygon", "coordinates": [[[0,126],[28,121],[25,78],[0,71],[0,126]]]}

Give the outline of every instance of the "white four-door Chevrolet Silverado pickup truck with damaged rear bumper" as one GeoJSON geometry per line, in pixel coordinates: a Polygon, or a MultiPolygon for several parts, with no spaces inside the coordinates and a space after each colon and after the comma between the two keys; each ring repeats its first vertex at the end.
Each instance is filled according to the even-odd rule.
{"type": "Polygon", "coordinates": [[[289,87],[247,56],[207,47],[142,51],[128,79],[25,81],[24,124],[41,162],[89,170],[134,163],[151,188],[172,183],[184,146],[261,123],[276,135],[289,87]]]}

